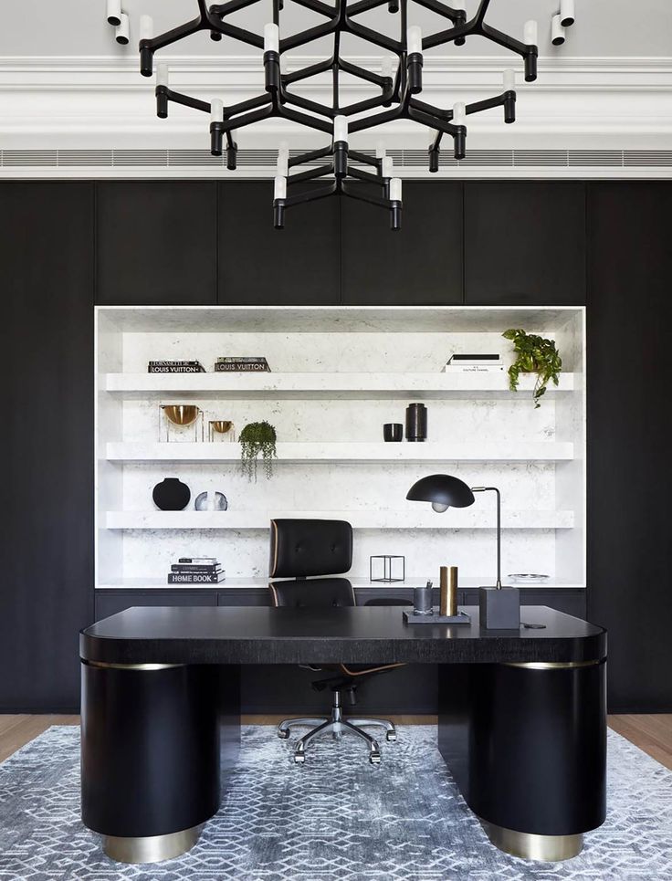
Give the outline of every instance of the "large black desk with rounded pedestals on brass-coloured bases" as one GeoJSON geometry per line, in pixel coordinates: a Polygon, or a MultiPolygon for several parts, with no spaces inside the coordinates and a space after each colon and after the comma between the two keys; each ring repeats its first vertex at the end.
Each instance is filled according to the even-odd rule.
{"type": "Polygon", "coordinates": [[[84,823],[127,862],[195,843],[236,758],[241,665],[407,662],[438,665],[439,750],[493,844],[578,853],[604,822],[606,634],[543,606],[523,620],[545,629],[481,631],[467,611],[459,626],[408,626],[398,607],[133,608],[93,624],[79,642],[84,823]]]}

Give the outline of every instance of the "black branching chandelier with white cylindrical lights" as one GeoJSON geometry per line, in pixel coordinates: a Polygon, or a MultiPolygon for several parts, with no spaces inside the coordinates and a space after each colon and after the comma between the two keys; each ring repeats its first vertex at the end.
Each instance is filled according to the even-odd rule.
{"type": "Polygon", "coordinates": [[[289,37],[280,38],[280,13],[283,0],[272,0],[273,20],[264,26],[263,36],[243,27],[231,24],[229,16],[261,0],[227,0],[226,3],[207,5],[196,0],[198,16],[184,25],[173,27],[159,37],[152,33],[152,19],[141,17],[140,71],[142,76],[152,76],[154,53],[197,31],[209,31],[213,40],[223,36],[232,37],[263,49],[265,90],[254,98],[225,106],[221,100],[211,102],[191,98],[169,88],[168,68],[157,68],[156,112],[161,119],[168,116],[168,104],[210,114],[210,150],[221,156],[226,140],[226,167],[236,169],[236,129],[246,128],[262,120],[281,118],[298,122],[329,136],[330,143],[320,150],[289,155],[289,148],[281,145],[278,150],[278,170],[275,178],[273,199],[273,223],[282,228],[285,212],[293,205],[311,202],[332,194],[342,194],[361,199],[373,205],[387,208],[391,228],[401,228],[402,182],[394,176],[393,161],[385,155],[383,147],[376,149],[375,156],[356,152],[349,147],[349,137],[360,131],[382,126],[387,122],[412,120],[426,126],[432,132],[428,149],[429,171],[437,172],[439,152],[444,135],[453,139],[453,153],[457,160],[464,159],[467,126],[466,118],[480,110],[502,106],[504,121],[516,119],[516,91],[513,70],[505,70],[503,89],[499,95],[471,104],[458,102],[449,109],[435,107],[418,98],[423,90],[423,53],[425,49],[454,43],[461,46],[467,37],[486,37],[499,46],[520,55],[525,65],[525,80],[537,79],[537,23],[528,21],[524,26],[523,40],[509,37],[486,21],[490,0],[480,0],[478,11],[467,21],[464,0],[453,0],[446,5],[441,0],[413,0],[419,6],[446,19],[445,30],[423,36],[421,28],[408,24],[408,0],[334,0],[335,5],[324,0],[294,0],[298,5],[326,19],[318,26],[309,27],[289,37]],[[357,16],[378,6],[387,5],[391,14],[399,16],[399,39],[387,37],[373,28],[362,25],[357,16]],[[341,36],[351,34],[389,52],[393,58],[383,59],[380,73],[352,64],[341,56],[341,36]],[[286,52],[306,46],[322,37],[333,37],[330,58],[308,67],[283,73],[281,58],[286,52]],[[322,104],[297,94],[292,87],[321,73],[331,71],[331,104],[322,104]],[[374,97],[354,104],[341,104],[341,75],[348,75],[370,83],[378,92],[374,97]],[[314,163],[324,160],[324,164],[314,163]],[[289,170],[313,163],[307,171],[290,174],[289,170]],[[369,170],[364,170],[365,166],[369,170]],[[322,181],[323,185],[310,189],[297,184],[322,181]]]}

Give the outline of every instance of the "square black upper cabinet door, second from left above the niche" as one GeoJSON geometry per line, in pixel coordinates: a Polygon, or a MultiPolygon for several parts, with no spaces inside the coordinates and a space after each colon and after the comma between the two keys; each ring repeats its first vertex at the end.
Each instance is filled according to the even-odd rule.
{"type": "Polygon", "coordinates": [[[340,200],[295,205],[273,227],[272,181],[219,184],[218,302],[330,306],[339,302],[340,200]]]}

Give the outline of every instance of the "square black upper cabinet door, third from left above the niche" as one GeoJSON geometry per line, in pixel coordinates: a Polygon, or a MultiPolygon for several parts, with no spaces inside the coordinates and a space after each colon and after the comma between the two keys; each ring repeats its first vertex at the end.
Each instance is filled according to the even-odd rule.
{"type": "Polygon", "coordinates": [[[377,205],[341,198],[342,302],[462,303],[462,184],[404,181],[402,228],[377,205]]]}

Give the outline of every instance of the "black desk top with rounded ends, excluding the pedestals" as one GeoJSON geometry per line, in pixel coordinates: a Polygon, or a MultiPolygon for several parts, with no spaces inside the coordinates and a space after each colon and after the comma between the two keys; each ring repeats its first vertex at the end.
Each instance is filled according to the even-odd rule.
{"type": "Polygon", "coordinates": [[[470,664],[594,661],[606,632],[546,606],[522,619],[544,630],[481,630],[471,624],[404,624],[398,606],[335,609],[226,606],[132,608],[79,636],[82,659],[108,664],[470,664]]]}

